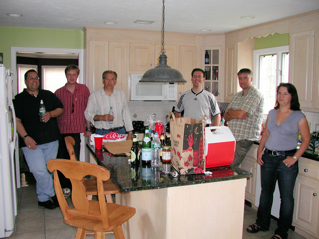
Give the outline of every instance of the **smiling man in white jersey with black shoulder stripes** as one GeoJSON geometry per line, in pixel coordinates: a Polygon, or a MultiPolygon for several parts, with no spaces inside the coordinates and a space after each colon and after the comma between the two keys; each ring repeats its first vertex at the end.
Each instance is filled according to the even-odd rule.
{"type": "Polygon", "coordinates": [[[184,111],[183,117],[200,119],[206,115],[205,125],[210,126],[210,115],[214,116],[213,126],[220,123],[220,110],[215,96],[203,89],[205,81],[205,72],[202,69],[195,68],[191,72],[192,89],[184,92],[178,99],[175,106],[175,117],[181,117],[181,112],[184,111]]]}

